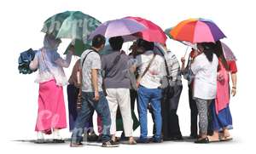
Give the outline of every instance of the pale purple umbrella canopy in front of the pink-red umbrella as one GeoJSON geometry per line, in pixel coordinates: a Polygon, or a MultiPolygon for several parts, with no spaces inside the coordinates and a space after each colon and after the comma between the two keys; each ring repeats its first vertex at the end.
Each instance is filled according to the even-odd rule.
{"type": "Polygon", "coordinates": [[[146,30],[147,28],[135,20],[119,19],[108,20],[98,26],[95,31],[90,34],[90,39],[97,34],[102,34],[105,37],[127,36],[133,33],[146,30]]]}

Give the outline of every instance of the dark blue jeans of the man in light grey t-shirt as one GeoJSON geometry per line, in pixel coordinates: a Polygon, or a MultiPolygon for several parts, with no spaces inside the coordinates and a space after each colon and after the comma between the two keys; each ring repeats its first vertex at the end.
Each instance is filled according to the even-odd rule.
{"type": "Polygon", "coordinates": [[[108,100],[106,99],[103,92],[99,92],[100,100],[95,101],[94,92],[82,92],[82,108],[78,112],[78,117],[75,122],[75,127],[73,129],[72,139],[73,143],[79,143],[83,140],[82,134],[84,132],[84,123],[88,123],[91,115],[94,110],[97,114],[102,117],[102,142],[111,140],[110,137],[110,126],[111,126],[111,117],[108,107],[108,100]]]}

